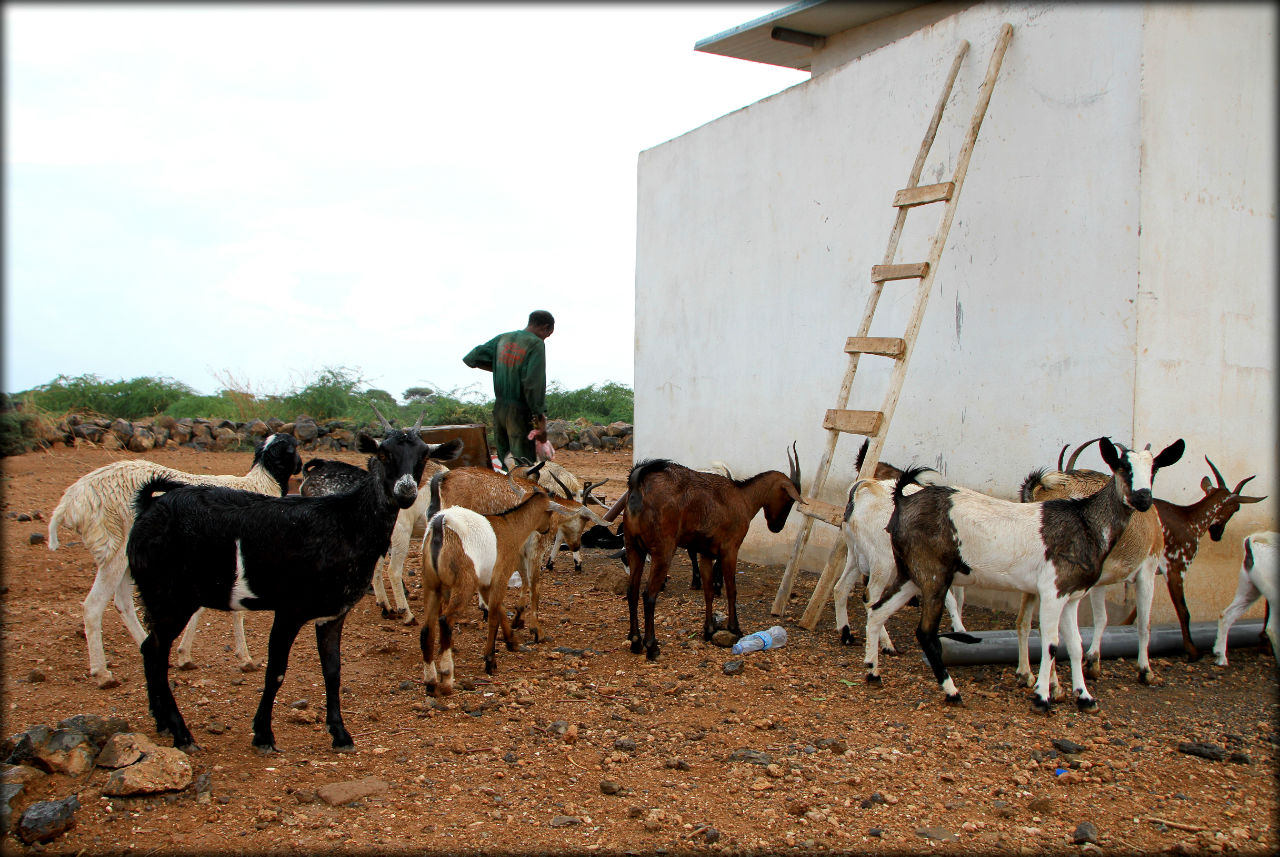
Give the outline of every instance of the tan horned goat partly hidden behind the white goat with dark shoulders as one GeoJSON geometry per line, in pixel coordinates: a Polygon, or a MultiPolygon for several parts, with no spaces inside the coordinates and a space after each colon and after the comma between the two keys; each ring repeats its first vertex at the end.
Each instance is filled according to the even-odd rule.
{"type": "MultiPolygon", "coordinates": [[[[1098,471],[1075,469],[1075,459],[1094,437],[1082,444],[1062,467],[1062,453],[1059,453],[1057,471],[1043,469],[1032,472],[1023,481],[1021,499],[1024,503],[1043,503],[1046,500],[1069,500],[1097,494],[1108,481],[1108,476],[1098,471]]],[[[1066,450],[1066,446],[1062,448],[1066,450]]],[[[1098,582],[1089,588],[1089,606],[1093,609],[1093,638],[1084,654],[1084,674],[1088,678],[1102,675],[1102,633],[1107,627],[1106,590],[1119,583],[1133,582],[1137,588],[1134,614],[1138,619],[1138,680],[1152,684],[1156,674],[1151,669],[1148,647],[1151,642],[1151,600],[1156,590],[1156,574],[1162,570],[1165,558],[1165,537],[1160,527],[1160,515],[1155,507],[1144,512],[1134,512],[1129,523],[1116,540],[1115,546],[1102,563],[1098,582]]],[[[1027,687],[1034,684],[1030,670],[1029,640],[1032,631],[1032,610],[1038,596],[1024,592],[1018,605],[1018,680],[1027,687]]],[[[1056,689],[1057,670],[1050,684],[1056,689]]]]}

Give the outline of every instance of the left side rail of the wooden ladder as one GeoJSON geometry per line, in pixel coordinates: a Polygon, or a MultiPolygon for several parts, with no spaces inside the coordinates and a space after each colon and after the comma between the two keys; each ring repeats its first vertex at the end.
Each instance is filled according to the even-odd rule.
{"type": "MultiPolygon", "coordinates": [[[[929,125],[924,132],[924,139],[920,142],[920,150],[915,155],[915,162],[911,164],[911,173],[908,178],[908,189],[914,188],[920,182],[920,175],[924,173],[924,164],[929,157],[929,150],[933,148],[933,139],[937,137],[938,127],[942,124],[942,114],[946,110],[947,100],[951,97],[951,90],[955,86],[956,77],[960,74],[960,65],[964,63],[965,54],[969,52],[968,40],[963,40],[956,47],[955,59],[951,60],[951,69],[947,72],[946,83],[942,87],[942,95],[938,97],[937,105],[933,107],[933,115],[929,118],[929,125]]],[[[952,197],[955,193],[951,194],[952,197]]],[[[884,265],[891,265],[893,257],[897,255],[897,243],[902,237],[902,229],[906,225],[906,214],[909,208],[901,207],[897,210],[897,216],[893,220],[893,229],[890,232],[888,249],[884,252],[884,265]]],[[[865,336],[872,327],[872,317],[876,315],[876,307],[879,304],[881,294],[884,290],[884,283],[873,283],[870,294],[867,297],[867,307],[863,311],[861,324],[858,326],[858,336],[865,336]]],[[[840,393],[837,394],[837,407],[844,408],[849,404],[849,395],[854,389],[854,376],[858,373],[858,359],[860,354],[849,356],[849,366],[845,370],[845,377],[840,384],[840,393]]],[[[831,471],[831,462],[836,454],[836,444],[840,440],[840,432],[836,430],[827,431],[827,444],[823,449],[822,458],[818,462],[818,469],[814,473],[814,481],[810,484],[810,496],[819,496],[827,486],[827,475],[831,471]]],[[[870,459],[870,455],[868,455],[870,459]]],[[[873,464],[874,467],[874,464],[873,464]]],[[[796,536],[795,545],[791,549],[791,558],[787,560],[786,570],[782,573],[782,582],[778,586],[778,592],[773,599],[773,606],[769,608],[772,615],[782,615],[783,609],[786,609],[787,599],[791,597],[791,588],[795,583],[795,573],[799,567],[800,554],[804,553],[805,545],[809,542],[809,532],[813,527],[813,518],[805,517],[804,522],[800,524],[800,533],[796,536]]],[[[844,542],[841,542],[844,544],[844,542]]]]}

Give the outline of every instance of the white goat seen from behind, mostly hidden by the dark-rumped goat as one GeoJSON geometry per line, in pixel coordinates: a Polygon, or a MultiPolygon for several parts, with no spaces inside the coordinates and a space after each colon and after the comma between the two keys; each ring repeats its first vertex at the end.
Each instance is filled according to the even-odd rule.
{"type": "MultiPolygon", "coordinates": [[[[924,475],[920,476],[922,481],[924,475]]],[[[836,604],[836,629],[840,632],[840,642],[845,646],[854,645],[854,632],[849,627],[849,596],[859,579],[865,579],[863,590],[868,620],[870,619],[870,605],[879,600],[884,588],[888,587],[897,574],[893,564],[893,546],[890,544],[888,526],[890,515],[893,514],[893,482],[896,480],[858,480],[849,486],[849,496],[845,503],[845,519],[840,526],[840,535],[849,547],[849,559],[845,560],[845,570],[832,590],[836,604]]],[[[909,492],[919,491],[919,486],[910,486],[909,492]]],[[[964,609],[965,581],[955,581],[952,588],[947,590],[946,606],[951,615],[951,629],[963,632],[964,620],[960,613],[964,609]]],[[[869,628],[868,628],[869,631],[869,628]]],[[[878,631],[879,651],[897,654],[893,641],[888,637],[888,629],[882,624],[878,631]]],[[[874,647],[870,637],[867,638],[868,657],[874,647]]]]}

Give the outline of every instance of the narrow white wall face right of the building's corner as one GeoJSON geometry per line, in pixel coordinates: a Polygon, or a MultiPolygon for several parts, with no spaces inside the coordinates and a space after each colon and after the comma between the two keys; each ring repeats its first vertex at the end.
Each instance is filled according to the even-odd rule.
{"type": "MultiPolygon", "coordinates": [[[[1240,507],[1187,578],[1193,618],[1231,600],[1240,541],[1276,528],[1276,8],[1151,4],[1143,17],[1137,435],[1187,440],[1157,494],[1203,496],[1208,455],[1240,507]]],[[[1157,587],[1157,620],[1174,614],[1157,587]]],[[[1262,605],[1249,614],[1262,617],[1262,605]]]]}

